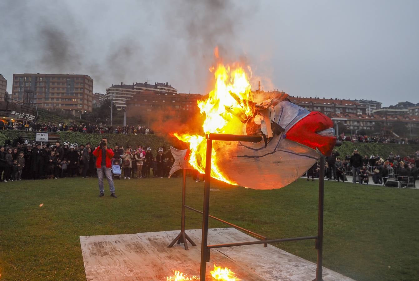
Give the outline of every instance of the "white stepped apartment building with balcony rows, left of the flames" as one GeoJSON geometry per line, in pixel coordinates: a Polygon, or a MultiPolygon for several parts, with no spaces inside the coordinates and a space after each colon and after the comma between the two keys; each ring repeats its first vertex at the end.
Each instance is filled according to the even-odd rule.
{"type": "Polygon", "coordinates": [[[127,101],[131,100],[137,93],[161,93],[161,94],[177,94],[178,90],[173,88],[171,85],[164,83],[132,83],[132,85],[125,85],[121,82],[121,85],[113,85],[106,89],[106,98],[114,101],[117,108],[126,108],[127,101]]]}

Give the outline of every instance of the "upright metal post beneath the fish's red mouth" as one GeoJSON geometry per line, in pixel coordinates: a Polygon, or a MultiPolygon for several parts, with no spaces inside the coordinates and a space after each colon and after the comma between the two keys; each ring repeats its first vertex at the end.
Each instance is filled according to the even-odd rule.
{"type": "Polygon", "coordinates": [[[325,159],[320,157],[320,175],[318,182],[318,228],[316,239],[317,268],[315,281],[323,281],[323,209],[324,209],[324,168],[325,159]]]}

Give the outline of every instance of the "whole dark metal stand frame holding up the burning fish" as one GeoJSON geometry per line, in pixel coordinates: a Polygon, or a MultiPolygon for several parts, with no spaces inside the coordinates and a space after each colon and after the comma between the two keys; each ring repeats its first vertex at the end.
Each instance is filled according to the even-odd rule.
{"type": "Polygon", "coordinates": [[[203,211],[191,208],[190,206],[185,205],[185,193],[186,193],[186,170],[183,170],[183,188],[182,188],[182,218],[181,218],[181,232],[176,236],[176,238],[168,245],[172,247],[175,242],[184,243],[185,250],[188,250],[188,245],[186,240],[191,242],[193,246],[196,244],[186,235],[185,233],[185,208],[192,211],[196,211],[202,214],[202,240],[201,240],[201,267],[200,267],[200,280],[205,281],[206,266],[209,262],[209,252],[210,249],[223,248],[223,247],[234,247],[234,246],[243,246],[243,245],[256,245],[263,244],[264,247],[267,247],[267,243],[274,242],[286,242],[286,241],[297,241],[297,240],[308,240],[315,239],[315,245],[317,250],[317,268],[316,268],[316,278],[313,281],[323,281],[323,199],[324,199],[324,165],[325,157],[322,155],[320,157],[320,180],[318,188],[318,229],[316,236],[305,236],[305,237],[293,237],[293,238],[282,238],[282,239],[272,239],[267,240],[265,236],[251,232],[248,229],[238,227],[235,224],[226,222],[217,217],[211,216],[209,214],[209,181],[211,178],[211,158],[212,158],[212,141],[236,141],[236,142],[260,142],[262,137],[255,136],[242,136],[242,135],[232,135],[232,134],[206,134],[207,139],[207,156],[205,160],[205,186],[204,186],[204,206],[203,211]],[[228,224],[236,229],[242,230],[244,232],[253,235],[261,240],[252,241],[252,242],[236,242],[220,245],[208,245],[208,220],[209,218],[216,219],[219,222],[228,224]]]}

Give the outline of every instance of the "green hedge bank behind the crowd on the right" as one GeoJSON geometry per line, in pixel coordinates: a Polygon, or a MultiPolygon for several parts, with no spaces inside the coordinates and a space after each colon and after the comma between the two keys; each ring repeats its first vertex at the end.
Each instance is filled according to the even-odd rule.
{"type": "Polygon", "coordinates": [[[380,157],[384,158],[393,152],[404,157],[418,151],[419,144],[343,142],[342,146],[337,147],[336,150],[344,157],[345,155],[351,155],[355,148],[362,156],[380,155],[380,157]]]}

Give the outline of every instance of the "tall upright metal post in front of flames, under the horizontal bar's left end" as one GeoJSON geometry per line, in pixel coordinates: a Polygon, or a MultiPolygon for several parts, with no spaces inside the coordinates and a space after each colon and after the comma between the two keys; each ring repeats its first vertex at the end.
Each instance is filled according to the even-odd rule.
{"type": "Polygon", "coordinates": [[[207,137],[207,156],[205,159],[205,185],[204,185],[204,207],[202,210],[202,239],[201,239],[201,270],[199,276],[201,281],[205,281],[207,261],[209,261],[208,245],[208,219],[209,219],[209,179],[211,178],[211,152],[212,140],[207,137]]]}

